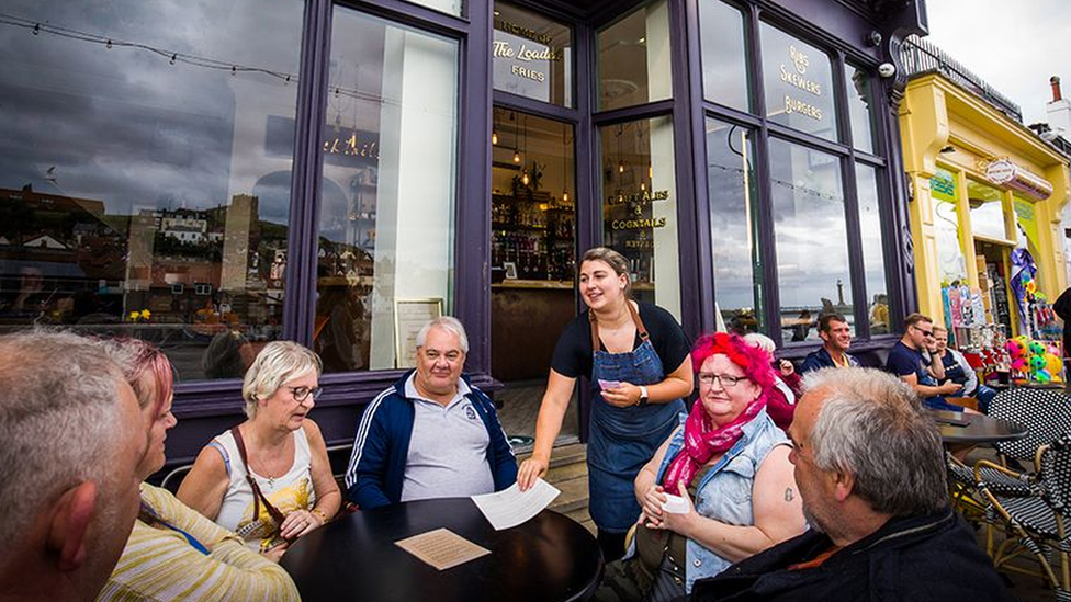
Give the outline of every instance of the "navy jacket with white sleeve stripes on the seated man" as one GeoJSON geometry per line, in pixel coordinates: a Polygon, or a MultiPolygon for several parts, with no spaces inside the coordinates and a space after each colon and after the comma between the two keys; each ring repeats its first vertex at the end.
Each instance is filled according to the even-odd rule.
{"type": "MultiPolygon", "coordinates": [[[[402,501],[405,463],[416,416],[413,400],[405,397],[405,382],[413,372],[405,373],[377,395],[364,409],[357,428],[353,454],[346,470],[346,496],[361,510],[402,501]]],[[[462,378],[469,383],[466,376],[462,378]]],[[[465,397],[476,408],[491,436],[487,463],[495,479],[495,491],[501,491],[517,481],[517,458],[498,422],[495,402],[476,387],[470,385],[470,388],[465,397]]]]}

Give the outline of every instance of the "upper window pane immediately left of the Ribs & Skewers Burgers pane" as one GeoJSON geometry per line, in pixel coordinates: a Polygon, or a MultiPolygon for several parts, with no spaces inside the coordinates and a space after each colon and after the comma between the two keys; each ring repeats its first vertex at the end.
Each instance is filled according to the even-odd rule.
{"type": "Polygon", "coordinates": [[[720,0],[700,0],[699,33],[703,98],[747,111],[744,15],[720,0]]]}

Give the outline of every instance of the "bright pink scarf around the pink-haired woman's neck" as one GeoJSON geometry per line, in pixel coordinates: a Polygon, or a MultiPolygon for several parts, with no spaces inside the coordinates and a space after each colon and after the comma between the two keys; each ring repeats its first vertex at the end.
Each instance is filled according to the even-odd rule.
{"type": "Polygon", "coordinates": [[[665,490],[674,496],[678,495],[678,482],[688,487],[702,465],[710,462],[715,453],[723,453],[732,447],[744,434],[744,424],[754,420],[759,410],[766,407],[766,390],[763,390],[735,420],[718,429],[707,417],[702,400],[696,400],[685,421],[685,445],[677,457],[673,458],[662,479],[665,490]]]}

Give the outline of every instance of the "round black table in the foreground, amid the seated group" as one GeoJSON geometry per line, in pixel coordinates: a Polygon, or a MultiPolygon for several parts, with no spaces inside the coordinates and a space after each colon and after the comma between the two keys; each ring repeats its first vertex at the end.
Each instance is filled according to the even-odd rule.
{"type": "Polygon", "coordinates": [[[590,598],[602,576],[598,543],[575,521],[544,510],[495,531],[469,498],[354,512],[298,539],[281,565],[305,602],[564,602],[590,598]],[[395,545],[439,527],[491,554],[439,571],[395,545]]]}

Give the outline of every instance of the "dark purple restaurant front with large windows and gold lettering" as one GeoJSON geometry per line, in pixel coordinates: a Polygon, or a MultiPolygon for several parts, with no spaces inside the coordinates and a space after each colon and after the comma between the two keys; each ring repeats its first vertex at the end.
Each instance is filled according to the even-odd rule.
{"type": "Polygon", "coordinates": [[[323,357],[329,444],[438,315],[504,411],[538,399],[599,245],[690,337],[802,355],[835,310],[880,349],[915,306],[895,48],[924,30],[922,0],[8,3],[0,328],[164,348],[172,463],[275,339],[323,357]]]}

